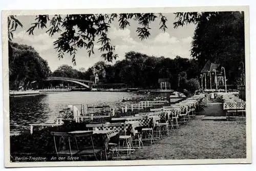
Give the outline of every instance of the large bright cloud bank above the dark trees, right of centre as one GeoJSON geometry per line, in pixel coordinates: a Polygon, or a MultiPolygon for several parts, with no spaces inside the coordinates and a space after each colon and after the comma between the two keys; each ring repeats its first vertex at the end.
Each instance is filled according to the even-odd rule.
{"type": "Polygon", "coordinates": [[[116,46],[115,53],[119,55],[117,60],[124,59],[125,53],[129,51],[140,52],[157,57],[165,56],[175,58],[176,55],[189,57],[190,45],[187,45],[189,38],[179,39],[170,36],[167,32],[159,33],[155,37],[145,40],[135,40],[129,29],[120,30],[112,27],[110,38],[111,43],[116,46]]]}

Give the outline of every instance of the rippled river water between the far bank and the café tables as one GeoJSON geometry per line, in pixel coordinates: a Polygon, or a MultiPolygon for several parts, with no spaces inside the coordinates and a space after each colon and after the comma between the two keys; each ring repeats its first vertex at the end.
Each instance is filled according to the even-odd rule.
{"type": "Polygon", "coordinates": [[[29,129],[31,123],[55,120],[59,111],[70,104],[110,105],[120,107],[122,99],[152,100],[169,93],[138,94],[131,92],[58,92],[45,95],[10,97],[10,132],[29,129]]]}

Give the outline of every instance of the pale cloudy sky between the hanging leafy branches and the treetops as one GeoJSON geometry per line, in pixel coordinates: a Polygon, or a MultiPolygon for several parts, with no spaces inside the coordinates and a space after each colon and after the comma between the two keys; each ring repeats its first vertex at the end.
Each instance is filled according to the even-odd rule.
{"type": "MultiPolygon", "coordinates": [[[[156,57],[164,56],[168,58],[175,58],[179,55],[184,58],[190,58],[191,40],[194,35],[195,25],[187,25],[174,29],[173,23],[175,21],[175,14],[164,14],[167,18],[165,32],[159,29],[160,20],[150,25],[151,35],[145,40],[140,40],[136,29],[138,23],[131,21],[131,25],[124,30],[119,29],[118,19],[111,24],[108,36],[111,38],[111,44],[116,46],[115,53],[118,58],[112,62],[114,64],[117,60],[124,59],[126,52],[135,51],[147,55],[154,55],[156,57]]],[[[98,51],[99,45],[95,42],[95,54],[89,57],[86,49],[79,49],[76,54],[76,66],[72,63],[72,58],[69,54],[64,58],[58,59],[58,53],[54,49],[53,42],[57,40],[58,35],[53,37],[46,33],[47,29],[35,29],[34,35],[29,35],[26,31],[35,22],[35,16],[17,16],[17,19],[23,24],[23,28],[17,28],[13,36],[13,41],[18,44],[25,44],[32,46],[39,55],[48,61],[49,67],[52,71],[56,70],[61,65],[69,65],[74,69],[80,68],[88,69],[98,61],[104,59],[100,56],[98,51]]],[[[111,62],[108,62],[111,64],[111,62]]]]}

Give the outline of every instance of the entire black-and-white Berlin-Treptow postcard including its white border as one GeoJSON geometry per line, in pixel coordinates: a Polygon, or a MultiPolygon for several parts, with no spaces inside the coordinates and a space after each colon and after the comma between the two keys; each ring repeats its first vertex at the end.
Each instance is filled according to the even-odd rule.
{"type": "Polygon", "coordinates": [[[251,162],[248,6],[2,14],[6,167],[251,162]]]}

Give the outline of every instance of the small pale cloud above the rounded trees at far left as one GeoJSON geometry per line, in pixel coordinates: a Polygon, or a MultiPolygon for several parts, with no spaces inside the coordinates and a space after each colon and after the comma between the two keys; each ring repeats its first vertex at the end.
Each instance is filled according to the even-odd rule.
{"type": "Polygon", "coordinates": [[[29,35],[26,31],[20,31],[14,34],[13,40],[19,44],[32,46],[39,53],[53,49],[53,42],[55,41],[55,39],[50,37],[47,33],[29,35]]]}

